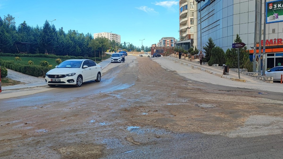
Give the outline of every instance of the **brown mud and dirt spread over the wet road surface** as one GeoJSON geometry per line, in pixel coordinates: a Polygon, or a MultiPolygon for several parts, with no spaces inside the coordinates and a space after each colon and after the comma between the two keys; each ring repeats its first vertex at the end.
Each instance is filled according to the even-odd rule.
{"type": "Polygon", "coordinates": [[[146,57],[127,62],[117,80],[136,78],[128,89],[1,112],[0,158],[109,158],[170,133],[231,137],[250,117],[283,117],[283,102],[271,92],[260,98],[254,90],[190,81],[146,57]]]}

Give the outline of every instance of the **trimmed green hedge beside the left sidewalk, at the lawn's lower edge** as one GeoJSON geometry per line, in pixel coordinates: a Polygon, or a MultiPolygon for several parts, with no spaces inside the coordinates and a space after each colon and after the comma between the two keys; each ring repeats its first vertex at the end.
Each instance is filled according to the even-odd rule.
{"type": "Polygon", "coordinates": [[[50,70],[50,68],[48,67],[43,67],[38,65],[22,65],[19,63],[15,63],[14,61],[5,61],[1,59],[0,59],[0,64],[1,67],[4,66],[8,69],[35,77],[45,77],[46,72],[50,70]]]}

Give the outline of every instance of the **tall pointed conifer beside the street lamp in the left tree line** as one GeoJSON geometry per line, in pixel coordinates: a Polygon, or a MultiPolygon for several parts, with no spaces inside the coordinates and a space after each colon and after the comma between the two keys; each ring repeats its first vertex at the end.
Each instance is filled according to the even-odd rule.
{"type": "Polygon", "coordinates": [[[44,48],[45,53],[47,53],[47,48],[52,46],[54,40],[54,32],[51,29],[50,24],[46,20],[43,29],[40,32],[39,43],[44,48]]]}

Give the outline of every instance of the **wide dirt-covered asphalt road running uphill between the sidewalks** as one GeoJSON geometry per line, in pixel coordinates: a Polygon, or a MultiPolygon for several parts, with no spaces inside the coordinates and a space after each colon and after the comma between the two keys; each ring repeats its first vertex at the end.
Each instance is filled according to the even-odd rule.
{"type": "Polygon", "coordinates": [[[0,99],[0,158],[282,158],[282,93],[229,82],[127,56],[100,83],[0,99]]]}

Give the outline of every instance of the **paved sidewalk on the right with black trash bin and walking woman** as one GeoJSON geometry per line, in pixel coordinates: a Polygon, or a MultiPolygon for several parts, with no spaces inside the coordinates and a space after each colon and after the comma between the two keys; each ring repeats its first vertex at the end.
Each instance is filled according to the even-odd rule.
{"type": "Polygon", "coordinates": [[[214,74],[216,76],[226,78],[226,79],[229,79],[229,80],[233,80],[233,81],[250,82],[250,83],[265,83],[263,81],[256,80],[255,78],[253,78],[251,76],[246,76],[246,75],[243,75],[243,74],[240,74],[241,79],[239,79],[237,72],[231,72],[230,71],[229,75],[223,75],[223,69],[222,68],[208,66],[208,65],[200,65],[200,63],[190,62],[188,60],[178,59],[176,57],[171,57],[171,56],[166,56],[165,58],[171,59],[175,62],[179,62],[181,64],[185,64],[185,65],[188,65],[190,67],[197,68],[199,70],[208,72],[210,74],[214,74]]]}

